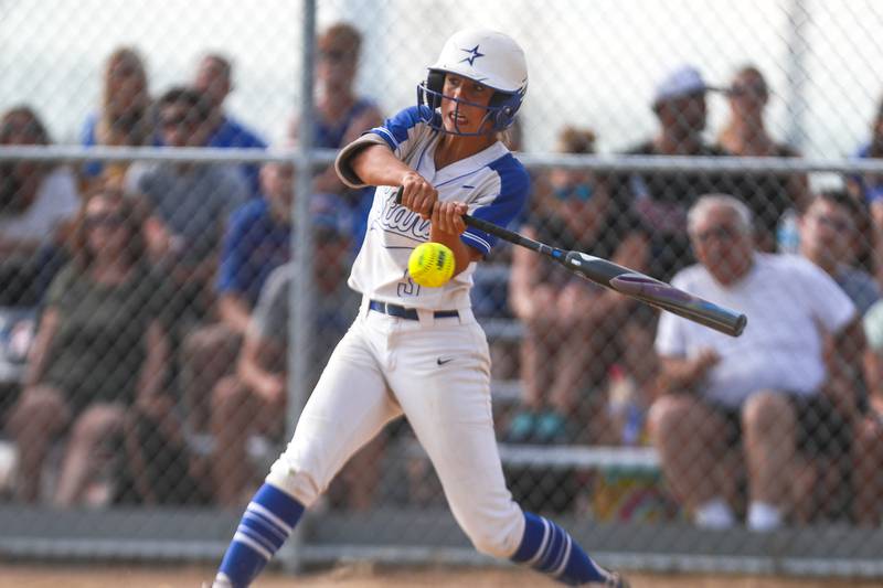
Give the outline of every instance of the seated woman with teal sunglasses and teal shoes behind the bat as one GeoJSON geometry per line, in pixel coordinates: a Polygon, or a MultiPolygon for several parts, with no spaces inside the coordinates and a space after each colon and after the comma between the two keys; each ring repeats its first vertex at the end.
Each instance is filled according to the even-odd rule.
{"type": "MultiPolygon", "coordinates": [[[[591,130],[567,127],[561,133],[560,150],[592,153],[594,141],[591,130]]],[[[586,170],[564,168],[552,170],[549,182],[552,197],[545,210],[526,220],[521,229],[525,236],[646,270],[647,234],[628,211],[617,209],[604,182],[586,170]]],[[[566,440],[575,432],[568,423],[583,407],[583,396],[602,384],[617,359],[617,333],[624,331],[635,302],[520,247],[512,250],[509,298],[524,324],[524,397],[507,438],[512,442],[566,440]]]]}

